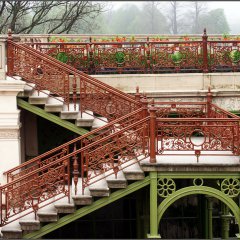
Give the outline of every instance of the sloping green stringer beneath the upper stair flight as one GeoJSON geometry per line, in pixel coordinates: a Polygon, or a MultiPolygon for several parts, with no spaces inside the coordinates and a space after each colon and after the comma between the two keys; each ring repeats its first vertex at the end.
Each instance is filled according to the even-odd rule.
{"type": "Polygon", "coordinates": [[[68,122],[66,120],[63,120],[61,119],[60,117],[54,115],[54,114],[51,114],[51,113],[47,113],[45,110],[39,108],[39,107],[36,107],[22,99],[17,99],[17,104],[19,107],[29,111],[29,112],[32,112],[42,118],[45,118],[61,127],[64,127],[72,132],[75,132],[79,135],[84,135],[86,133],[89,133],[88,130],[84,129],[84,128],[81,128],[81,127],[77,127],[75,124],[71,123],[71,122],[68,122]]]}

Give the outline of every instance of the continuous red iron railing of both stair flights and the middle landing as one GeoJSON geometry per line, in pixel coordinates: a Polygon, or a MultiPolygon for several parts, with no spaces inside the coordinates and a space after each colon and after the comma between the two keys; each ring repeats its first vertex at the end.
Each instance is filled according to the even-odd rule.
{"type": "Polygon", "coordinates": [[[138,92],[134,100],[36,50],[10,40],[8,44],[10,76],[20,75],[27,82],[36,83],[39,90],[47,88],[57,96],[62,96],[67,104],[70,99],[76,104],[76,99],[82,100],[82,95],[83,109],[90,109],[110,120],[116,120],[7,171],[8,183],[0,186],[1,226],[30,212],[36,215],[37,210],[49,202],[66,196],[69,198],[70,168],[73,170],[74,193],[79,194],[81,177],[84,194],[85,188],[94,182],[110,174],[117,177],[122,168],[147,157],[150,157],[150,162],[155,163],[156,154],[166,151],[195,151],[197,157],[201,151],[213,150],[239,154],[239,118],[213,105],[210,91],[206,103],[191,105],[164,102],[157,103],[155,107],[152,102],[148,107],[146,99],[142,99],[142,103],[139,101],[138,92]],[[55,86],[56,82],[47,81],[48,74],[52,77],[54,71],[63,76],[64,81],[66,80],[65,86],[68,87],[58,88],[55,86]],[[80,79],[79,91],[74,80],[73,93],[70,93],[70,74],[74,79],[80,79]],[[88,87],[94,88],[94,91],[88,87]],[[105,110],[94,100],[105,104],[105,110]],[[109,104],[110,112],[106,110],[109,104]],[[172,114],[182,118],[171,119],[169,117],[172,114]],[[164,116],[168,118],[162,118],[164,116]],[[200,118],[191,118],[193,116],[200,118]],[[194,143],[196,135],[200,135],[198,140],[204,137],[201,145],[194,143]]]}

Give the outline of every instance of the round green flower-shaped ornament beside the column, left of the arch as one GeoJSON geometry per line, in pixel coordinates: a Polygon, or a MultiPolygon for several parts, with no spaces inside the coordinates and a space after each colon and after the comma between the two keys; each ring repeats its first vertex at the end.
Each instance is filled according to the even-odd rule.
{"type": "Polygon", "coordinates": [[[166,198],[174,193],[176,190],[176,184],[171,178],[158,179],[157,191],[160,197],[166,198]]]}

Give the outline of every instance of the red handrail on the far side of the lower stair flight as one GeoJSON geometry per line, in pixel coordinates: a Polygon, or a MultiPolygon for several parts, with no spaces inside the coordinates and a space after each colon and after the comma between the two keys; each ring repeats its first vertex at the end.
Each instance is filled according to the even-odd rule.
{"type": "Polygon", "coordinates": [[[15,168],[12,168],[12,169],[10,169],[10,170],[8,170],[8,171],[5,171],[4,174],[9,174],[9,173],[12,173],[12,172],[14,172],[14,171],[16,171],[16,170],[18,170],[18,169],[21,169],[21,168],[23,168],[23,167],[26,167],[27,165],[30,165],[30,164],[38,161],[39,159],[48,156],[49,154],[52,154],[52,153],[54,153],[54,152],[56,152],[56,151],[58,151],[58,150],[61,150],[61,149],[63,149],[64,147],[69,146],[70,144],[74,144],[74,143],[76,143],[76,142],[78,142],[78,141],[80,141],[80,140],[82,140],[82,139],[85,139],[85,138],[90,138],[93,134],[96,134],[96,133],[98,133],[98,132],[101,132],[101,131],[104,130],[104,129],[108,129],[109,127],[113,126],[114,124],[117,124],[117,123],[123,121],[124,119],[127,119],[127,118],[129,118],[129,117],[131,117],[131,116],[133,116],[133,115],[135,115],[135,114],[137,114],[137,113],[140,113],[142,110],[143,110],[143,108],[137,109],[136,111],[133,111],[133,112],[131,112],[131,113],[129,113],[129,114],[121,117],[121,118],[118,118],[118,119],[116,119],[116,120],[113,120],[113,121],[111,121],[110,123],[108,123],[108,124],[106,124],[106,125],[104,125],[104,126],[102,126],[102,127],[100,127],[100,128],[97,128],[97,129],[95,129],[95,130],[92,130],[91,132],[86,133],[86,134],[84,134],[84,135],[82,135],[82,136],[80,136],[80,137],[74,138],[73,140],[68,141],[68,142],[66,142],[66,143],[64,143],[64,144],[62,144],[62,145],[60,145],[60,146],[58,146],[58,147],[56,147],[56,148],[54,148],[54,149],[51,149],[51,150],[49,150],[49,151],[47,151],[47,152],[45,152],[45,153],[43,153],[43,154],[41,154],[41,155],[39,155],[39,156],[37,156],[37,157],[34,157],[34,158],[30,159],[29,161],[18,165],[18,166],[15,167],[15,168]]]}

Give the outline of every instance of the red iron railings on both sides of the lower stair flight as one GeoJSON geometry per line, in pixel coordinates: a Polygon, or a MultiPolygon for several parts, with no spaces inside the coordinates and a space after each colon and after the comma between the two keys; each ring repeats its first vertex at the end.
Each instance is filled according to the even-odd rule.
{"type": "Polygon", "coordinates": [[[1,226],[69,198],[71,162],[74,193],[84,194],[87,186],[146,158],[149,121],[142,113],[139,109],[6,172],[9,183],[0,186],[1,226]],[[77,192],[79,177],[82,193],[77,192]]]}

